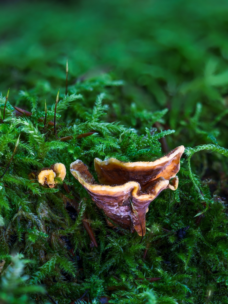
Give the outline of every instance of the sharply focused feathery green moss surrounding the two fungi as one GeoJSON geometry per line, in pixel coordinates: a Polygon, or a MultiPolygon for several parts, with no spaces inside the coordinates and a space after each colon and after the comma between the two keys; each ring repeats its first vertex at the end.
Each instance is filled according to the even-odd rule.
{"type": "MultiPolygon", "coordinates": [[[[96,86],[94,81],[88,81],[88,84],[96,86]]],[[[11,250],[23,252],[34,261],[26,266],[29,284],[45,284],[48,294],[64,303],[80,298],[85,292],[89,299],[99,301],[106,295],[113,303],[145,302],[151,298],[150,290],[159,303],[200,303],[206,299],[209,288],[213,288],[213,299],[225,296],[228,233],[225,205],[216,195],[212,197],[209,188],[192,173],[190,162],[187,162],[189,167],[182,164],[183,177],[179,174],[178,190],[165,190],[151,203],[147,234],[141,244],[141,237],[136,233],[120,227],[116,231],[109,228],[103,214],[70,174],[70,163],[78,158],[93,174],[94,157],[116,157],[123,161],[154,159],[161,155],[158,139],[174,132],[159,133],[156,129],[151,132],[146,128],[144,135],[139,135],[135,129],[102,120],[109,111],[103,99],[112,91],[108,88],[110,84],[110,81],[102,84],[106,95],[98,95],[92,109],[85,106],[90,99],[82,94],[85,84],[82,89],[81,84],[76,86],[77,95],[67,95],[60,100],[57,113],[75,113],[74,121],[69,119],[65,123],[58,116],[58,138],[72,136],[64,142],[56,139],[53,126],[47,125],[43,129],[43,121],[38,119],[44,113],[36,112],[36,98],[30,95],[32,93],[26,93],[33,108],[30,117],[16,117],[11,105],[7,104],[6,120],[0,124],[0,174],[11,158],[19,134],[20,139],[9,169],[1,178],[2,256],[10,261],[11,250]],[[89,131],[95,133],[77,139],[79,134],[89,131]],[[65,208],[64,197],[70,199],[72,196],[63,184],[50,189],[28,179],[29,173],[55,162],[65,164],[64,183],[81,197],[81,212],[75,221],[65,208]],[[82,225],[83,212],[88,214],[97,248],[91,247],[82,225]],[[188,225],[186,237],[178,238],[176,231],[188,225]],[[69,251],[71,248],[75,256],[69,251]],[[161,279],[150,282],[146,278],[161,279]]],[[[4,103],[5,98],[1,100],[4,103]]],[[[165,113],[166,110],[140,114],[132,107],[131,119],[140,115],[143,125],[150,115],[155,123],[165,113]]],[[[54,107],[48,111],[48,120],[53,116],[54,107]]],[[[188,148],[186,153],[190,159],[195,152],[205,149],[227,156],[227,150],[215,144],[188,148]]],[[[47,300],[46,295],[32,297],[35,298],[40,302],[47,300]]]]}

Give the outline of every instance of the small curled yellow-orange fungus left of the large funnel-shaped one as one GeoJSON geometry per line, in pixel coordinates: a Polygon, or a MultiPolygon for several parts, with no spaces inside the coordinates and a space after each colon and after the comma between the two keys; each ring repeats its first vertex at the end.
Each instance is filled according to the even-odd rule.
{"type": "Polygon", "coordinates": [[[56,182],[54,180],[56,176],[64,180],[66,176],[66,168],[64,164],[56,163],[52,165],[50,168],[43,168],[39,172],[37,176],[37,180],[41,185],[48,185],[49,188],[54,188],[56,185],[56,182]]]}

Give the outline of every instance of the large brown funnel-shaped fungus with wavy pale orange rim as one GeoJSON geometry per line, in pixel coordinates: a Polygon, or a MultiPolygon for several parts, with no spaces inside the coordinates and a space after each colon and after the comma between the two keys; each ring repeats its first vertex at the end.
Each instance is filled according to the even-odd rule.
{"type": "MultiPolygon", "coordinates": [[[[124,163],[114,158],[106,161],[95,158],[101,185],[80,160],[71,164],[70,171],[114,224],[132,232],[135,229],[142,236],[146,233],[145,215],[150,202],[162,190],[175,190],[178,186],[176,174],[183,152],[183,146],[177,147],[154,162],[124,163]]],[[[110,220],[108,224],[114,226],[110,220]]]]}

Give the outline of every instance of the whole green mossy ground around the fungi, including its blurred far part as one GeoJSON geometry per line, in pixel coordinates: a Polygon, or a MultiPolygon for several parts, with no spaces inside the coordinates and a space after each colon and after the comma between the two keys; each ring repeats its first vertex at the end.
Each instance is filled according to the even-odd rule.
{"type": "Polygon", "coordinates": [[[15,252],[31,260],[14,258],[1,276],[3,303],[26,292],[30,299],[21,303],[51,301],[49,295],[68,304],[83,294],[78,303],[105,296],[110,303],[228,302],[227,13],[226,1],[1,4],[2,118],[9,87],[10,94],[0,124],[0,175],[20,138],[0,181],[0,252],[3,270],[15,252]],[[45,98],[47,123],[54,119],[59,88],[57,137],[72,136],[67,141],[39,121],[45,98]],[[15,116],[13,106],[32,116],[15,116]],[[150,204],[142,243],[136,233],[110,229],[69,172],[76,159],[95,175],[95,157],[149,161],[181,144],[191,148],[179,187],[150,204]],[[65,187],[29,180],[55,162],[67,168],[65,187]],[[16,275],[23,267],[28,280],[16,275]]]}

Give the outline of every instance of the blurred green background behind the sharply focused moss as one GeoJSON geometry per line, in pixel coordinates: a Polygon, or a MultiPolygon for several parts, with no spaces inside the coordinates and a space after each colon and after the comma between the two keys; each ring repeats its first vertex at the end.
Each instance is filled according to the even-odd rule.
{"type": "Polygon", "coordinates": [[[63,96],[68,59],[70,93],[88,79],[124,80],[110,91],[109,121],[140,129],[132,107],[168,108],[170,147],[228,146],[228,1],[9,1],[0,14],[0,91],[10,87],[12,104],[29,110],[21,89],[42,110],[59,87],[63,96]]]}

